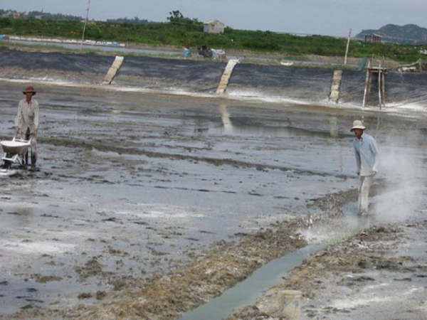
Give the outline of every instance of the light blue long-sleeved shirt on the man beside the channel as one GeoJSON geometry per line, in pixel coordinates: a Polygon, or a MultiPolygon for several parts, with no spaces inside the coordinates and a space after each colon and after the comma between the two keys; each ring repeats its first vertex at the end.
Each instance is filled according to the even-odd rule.
{"type": "Polygon", "coordinates": [[[357,172],[360,176],[371,176],[378,172],[379,151],[375,139],[369,134],[362,134],[361,140],[354,138],[354,154],[356,155],[357,172]]]}

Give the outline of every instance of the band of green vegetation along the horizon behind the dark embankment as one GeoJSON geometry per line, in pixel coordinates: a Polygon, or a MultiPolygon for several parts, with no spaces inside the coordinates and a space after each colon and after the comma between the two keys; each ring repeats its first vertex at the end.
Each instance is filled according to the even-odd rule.
{"type": "MultiPolygon", "coordinates": [[[[167,23],[117,23],[90,21],[85,39],[93,41],[117,41],[119,43],[144,43],[155,46],[191,48],[201,45],[226,50],[248,50],[258,53],[281,55],[344,56],[347,38],[330,36],[295,36],[271,31],[243,31],[226,28],[224,33],[204,33],[203,23],[185,18],[179,11],[172,11],[167,23]]],[[[0,33],[14,36],[43,36],[80,39],[82,21],[52,21],[34,18],[0,18],[0,33]]],[[[349,57],[364,55],[390,58],[399,63],[413,63],[425,58],[419,53],[427,45],[413,46],[396,43],[364,43],[351,41],[349,57]]]]}

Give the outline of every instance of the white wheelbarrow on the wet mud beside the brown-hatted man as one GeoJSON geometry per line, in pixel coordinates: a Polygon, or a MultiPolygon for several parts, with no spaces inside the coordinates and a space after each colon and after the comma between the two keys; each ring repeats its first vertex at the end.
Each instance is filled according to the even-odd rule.
{"type": "Polygon", "coordinates": [[[4,156],[1,160],[4,161],[3,169],[10,169],[12,164],[24,166],[28,164],[28,149],[31,149],[31,138],[29,140],[16,139],[16,136],[11,141],[1,141],[4,156]]]}

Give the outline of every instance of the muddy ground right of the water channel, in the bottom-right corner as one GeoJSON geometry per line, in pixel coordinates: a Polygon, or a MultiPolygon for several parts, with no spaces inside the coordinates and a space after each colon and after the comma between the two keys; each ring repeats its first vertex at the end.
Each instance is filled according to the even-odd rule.
{"type": "MultiPolygon", "coordinates": [[[[371,218],[367,218],[367,221],[371,218]]],[[[236,319],[281,319],[277,297],[302,292],[300,319],[424,319],[426,220],[374,225],[307,258],[236,319]],[[273,303],[272,303],[273,302],[273,303]]]]}

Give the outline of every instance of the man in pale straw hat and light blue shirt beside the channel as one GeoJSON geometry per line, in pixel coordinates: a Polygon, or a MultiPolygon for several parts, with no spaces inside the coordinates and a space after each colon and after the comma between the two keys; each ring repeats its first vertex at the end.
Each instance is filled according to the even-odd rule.
{"type": "Polygon", "coordinates": [[[354,120],[354,154],[356,155],[357,176],[359,176],[359,213],[366,215],[369,205],[369,189],[374,176],[378,173],[379,151],[375,139],[364,133],[364,125],[360,120],[354,120]]]}

